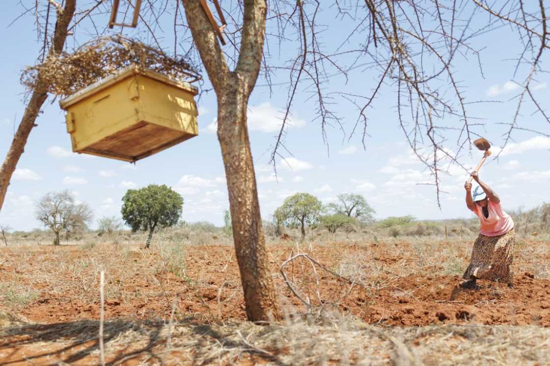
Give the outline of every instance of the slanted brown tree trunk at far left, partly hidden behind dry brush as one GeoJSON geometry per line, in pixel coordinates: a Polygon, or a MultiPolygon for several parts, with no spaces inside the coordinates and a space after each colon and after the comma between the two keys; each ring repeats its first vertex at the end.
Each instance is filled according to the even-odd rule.
{"type": "MultiPolygon", "coordinates": [[[[57,13],[56,29],[53,34],[53,45],[50,48],[49,54],[57,54],[63,51],[65,40],[67,39],[67,29],[73,19],[75,6],[76,0],[66,0],[63,12],[57,13]]],[[[40,81],[40,74],[38,74],[37,80],[38,85],[32,91],[29,104],[27,104],[25,108],[23,118],[21,118],[17,132],[15,132],[13,137],[12,145],[9,147],[8,154],[0,168],[0,210],[2,210],[13,172],[17,167],[21,154],[25,151],[27,138],[29,138],[32,127],[35,126],[38,113],[40,113],[40,108],[48,96],[47,86],[40,81]]]]}

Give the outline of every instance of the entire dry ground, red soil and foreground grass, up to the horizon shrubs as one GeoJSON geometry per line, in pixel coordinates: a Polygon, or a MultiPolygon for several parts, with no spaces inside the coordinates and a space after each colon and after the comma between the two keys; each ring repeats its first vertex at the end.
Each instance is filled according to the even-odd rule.
{"type": "Polygon", "coordinates": [[[111,364],[534,365],[550,356],[548,242],[518,241],[514,289],[481,282],[478,291],[455,286],[471,240],[278,241],[269,248],[285,314],[273,326],[244,321],[228,245],[160,237],[150,250],[2,248],[0,364],[98,364],[101,270],[111,364]],[[311,308],[279,273],[296,253],[334,273],[304,257],[284,268],[311,308]]]}

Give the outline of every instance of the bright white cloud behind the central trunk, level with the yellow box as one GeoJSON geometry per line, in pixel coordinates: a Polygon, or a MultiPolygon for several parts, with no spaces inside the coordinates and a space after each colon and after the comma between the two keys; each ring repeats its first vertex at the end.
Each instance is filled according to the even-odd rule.
{"type": "MultiPolygon", "coordinates": [[[[287,118],[285,129],[306,125],[305,120],[300,119],[295,112],[293,114],[287,118]]],[[[249,106],[246,120],[250,131],[277,132],[283,124],[283,117],[284,113],[282,111],[274,108],[270,102],[264,102],[257,106],[249,106]]],[[[208,132],[216,132],[216,129],[216,119],[214,119],[211,124],[208,124],[206,130],[208,132]]]]}

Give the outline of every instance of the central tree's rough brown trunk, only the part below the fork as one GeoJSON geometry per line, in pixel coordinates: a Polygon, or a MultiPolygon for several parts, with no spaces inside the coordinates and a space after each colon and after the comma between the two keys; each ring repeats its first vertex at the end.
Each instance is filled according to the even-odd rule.
{"type": "Polygon", "coordinates": [[[224,98],[223,104],[218,104],[218,123],[227,127],[218,128],[218,139],[226,168],[233,240],[243,284],[246,316],[251,321],[268,321],[277,319],[279,311],[246,128],[247,104],[239,100],[238,83],[234,88],[229,93],[230,97],[224,98]]]}

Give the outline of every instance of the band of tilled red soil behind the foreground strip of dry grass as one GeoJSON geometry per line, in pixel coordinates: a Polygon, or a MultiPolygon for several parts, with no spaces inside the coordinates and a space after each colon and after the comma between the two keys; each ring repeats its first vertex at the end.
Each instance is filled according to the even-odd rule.
{"type": "MultiPolygon", "coordinates": [[[[392,255],[392,248],[382,247],[341,244],[315,246],[313,251],[305,251],[336,272],[344,257],[348,258],[346,263],[349,258],[356,259],[355,277],[353,271],[348,274],[356,279],[354,286],[316,268],[320,297],[316,295],[312,266],[305,258],[296,259],[285,267],[285,272],[301,292],[309,293],[314,310],[320,305],[325,309],[337,308],[370,324],[421,326],[473,322],[550,326],[548,279],[518,273],[514,289],[481,281],[479,290],[458,290],[458,275],[442,275],[438,267],[418,267],[414,258],[392,255]],[[360,280],[357,274],[362,274],[360,280]],[[357,285],[361,281],[365,287],[357,285]]],[[[70,265],[45,270],[42,275],[29,275],[21,273],[17,264],[19,257],[25,256],[28,263],[30,256],[30,262],[36,263],[35,270],[40,273],[40,261],[47,261],[50,255],[62,252],[65,260],[77,260],[94,257],[96,250],[86,252],[77,247],[41,247],[32,251],[5,249],[4,254],[12,260],[0,262],[0,283],[16,282],[38,291],[35,301],[17,309],[32,321],[97,320],[99,296],[94,271],[90,269],[89,276],[95,278],[95,282],[88,281],[89,291],[83,295],[72,286],[59,287],[59,281],[67,284],[83,281],[83,274],[75,273],[70,265]]],[[[113,246],[101,246],[97,252],[108,256],[109,250],[113,250],[113,246]]],[[[279,266],[289,257],[292,247],[272,246],[270,251],[273,278],[283,311],[304,312],[305,307],[289,291],[279,273],[279,266]]],[[[232,247],[188,247],[187,278],[156,268],[159,254],[154,249],[144,255],[133,253],[129,258],[120,259],[114,268],[108,268],[106,319],[167,319],[176,296],[178,309],[184,315],[204,320],[245,320],[244,299],[232,247]]],[[[466,258],[461,260],[466,263],[466,258]]],[[[6,310],[16,312],[15,309],[6,310]]]]}

